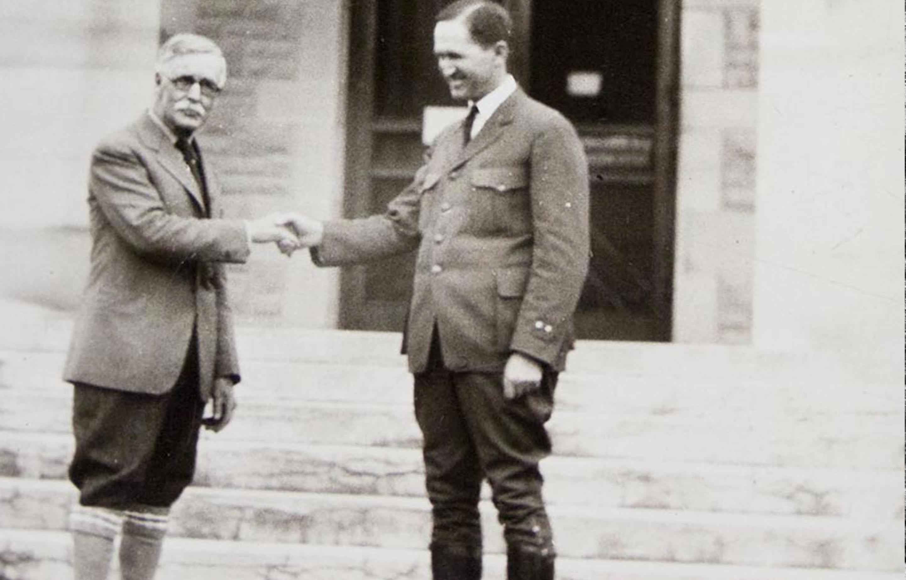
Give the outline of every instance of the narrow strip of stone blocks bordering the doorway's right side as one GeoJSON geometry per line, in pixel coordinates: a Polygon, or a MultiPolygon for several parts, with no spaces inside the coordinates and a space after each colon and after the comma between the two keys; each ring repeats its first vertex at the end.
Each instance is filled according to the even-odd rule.
{"type": "Polygon", "coordinates": [[[757,0],[687,0],[673,337],[749,342],[755,253],[757,0]]]}

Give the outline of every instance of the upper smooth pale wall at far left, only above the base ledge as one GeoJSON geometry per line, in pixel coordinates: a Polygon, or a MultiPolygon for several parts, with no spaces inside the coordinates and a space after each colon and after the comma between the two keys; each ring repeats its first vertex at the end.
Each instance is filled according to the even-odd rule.
{"type": "Polygon", "coordinates": [[[148,106],[158,29],[153,2],[0,2],[0,228],[87,225],[92,148],[148,106]]]}

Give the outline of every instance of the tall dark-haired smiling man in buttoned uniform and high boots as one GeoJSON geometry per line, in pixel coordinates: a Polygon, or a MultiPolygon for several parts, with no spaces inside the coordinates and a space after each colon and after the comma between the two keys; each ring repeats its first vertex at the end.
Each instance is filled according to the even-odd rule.
{"type": "MultiPolygon", "coordinates": [[[[572,345],[588,267],[588,169],[573,126],[507,74],[509,14],[486,0],[444,8],[440,73],[462,123],[387,212],[294,228],[321,265],[418,248],[404,349],[433,506],[435,580],[481,576],[481,481],[504,525],[510,580],[550,580],[554,539],[538,462],[572,345]]],[[[284,248],[291,251],[291,248],[284,248]]]]}

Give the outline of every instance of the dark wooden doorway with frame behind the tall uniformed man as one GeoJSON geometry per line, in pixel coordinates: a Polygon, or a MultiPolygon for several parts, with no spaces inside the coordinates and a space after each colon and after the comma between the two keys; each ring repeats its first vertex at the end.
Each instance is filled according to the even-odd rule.
{"type": "MultiPolygon", "coordinates": [[[[669,340],[679,0],[510,0],[510,69],[573,120],[592,176],[580,338],[669,340]]],[[[422,111],[450,105],[431,38],[441,0],[353,1],[345,213],[381,212],[421,162],[422,111]]],[[[348,268],[341,326],[400,330],[413,257],[348,268]]]]}

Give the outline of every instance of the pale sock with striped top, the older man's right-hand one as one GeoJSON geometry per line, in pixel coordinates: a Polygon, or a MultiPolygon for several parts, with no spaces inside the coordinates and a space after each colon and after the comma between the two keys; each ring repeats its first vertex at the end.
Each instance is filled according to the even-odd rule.
{"type": "Polygon", "coordinates": [[[122,580],[151,580],[167,535],[168,509],[126,511],[120,539],[122,580]]]}

